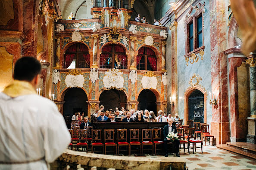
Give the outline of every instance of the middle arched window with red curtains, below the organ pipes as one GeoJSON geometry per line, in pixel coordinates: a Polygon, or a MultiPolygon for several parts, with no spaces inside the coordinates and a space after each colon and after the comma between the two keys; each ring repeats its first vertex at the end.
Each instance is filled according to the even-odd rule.
{"type": "Polygon", "coordinates": [[[125,49],[118,44],[109,44],[103,47],[100,55],[100,68],[126,69],[127,57],[125,49]]]}

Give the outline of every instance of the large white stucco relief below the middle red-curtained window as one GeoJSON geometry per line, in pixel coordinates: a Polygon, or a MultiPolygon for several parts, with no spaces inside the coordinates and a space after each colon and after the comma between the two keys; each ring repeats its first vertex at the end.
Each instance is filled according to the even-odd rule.
{"type": "Polygon", "coordinates": [[[109,69],[105,71],[103,77],[103,84],[105,88],[123,88],[125,79],[123,78],[123,72],[119,69],[109,69]]]}

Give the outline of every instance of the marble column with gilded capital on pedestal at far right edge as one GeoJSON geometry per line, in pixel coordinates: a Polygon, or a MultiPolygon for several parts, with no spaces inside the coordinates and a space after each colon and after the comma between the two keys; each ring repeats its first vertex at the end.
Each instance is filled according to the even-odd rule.
{"type": "Polygon", "coordinates": [[[246,141],[256,144],[256,58],[249,58],[246,64],[250,64],[250,105],[251,115],[247,118],[248,134],[246,141]]]}

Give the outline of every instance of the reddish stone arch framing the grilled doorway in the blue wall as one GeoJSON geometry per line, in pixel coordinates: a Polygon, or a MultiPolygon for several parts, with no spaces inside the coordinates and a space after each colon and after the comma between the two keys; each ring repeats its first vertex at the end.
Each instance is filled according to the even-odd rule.
{"type": "Polygon", "coordinates": [[[190,94],[195,91],[195,90],[199,90],[203,93],[203,103],[204,103],[204,122],[206,123],[206,100],[207,100],[207,91],[196,85],[196,86],[191,86],[189,88],[187,88],[187,90],[185,91],[184,94],[184,124],[187,124],[187,120],[188,120],[188,97],[190,96],[190,94]]]}

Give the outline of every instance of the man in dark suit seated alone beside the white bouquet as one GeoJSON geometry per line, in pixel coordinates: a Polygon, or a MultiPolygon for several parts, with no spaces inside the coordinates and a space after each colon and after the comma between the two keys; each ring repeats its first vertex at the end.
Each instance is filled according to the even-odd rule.
{"type": "MultiPolygon", "coordinates": [[[[172,119],[168,119],[168,125],[164,126],[164,147],[165,147],[165,157],[168,157],[168,144],[170,142],[170,139],[167,137],[168,134],[170,134],[171,132],[177,133],[177,128],[175,125],[172,125],[172,119]]],[[[180,141],[179,140],[175,140],[174,141],[174,147],[175,147],[175,152],[176,152],[176,156],[180,157],[180,150],[179,150],[179,146],[180,146],[180,141]]]]}

